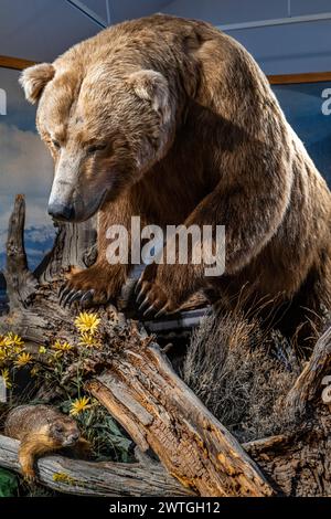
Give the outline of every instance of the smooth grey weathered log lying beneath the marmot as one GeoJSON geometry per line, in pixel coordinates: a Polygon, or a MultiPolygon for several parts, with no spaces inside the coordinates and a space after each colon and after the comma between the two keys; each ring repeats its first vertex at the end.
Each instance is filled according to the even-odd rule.
{"type": "MultiPolygon", "coordinates": [[[[0,435],[0,466],[21,472],[20,442],[0,435]]],[[[36,462],[38,480],[54,490],[78,496],[190,496],[158,463],[82,462],[51,455],[36,462]]]]}

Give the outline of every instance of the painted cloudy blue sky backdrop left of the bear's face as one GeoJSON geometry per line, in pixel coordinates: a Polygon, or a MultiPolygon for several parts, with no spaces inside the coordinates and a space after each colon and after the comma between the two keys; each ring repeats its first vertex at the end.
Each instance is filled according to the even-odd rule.
{"type": "Polygon", "coordinates": [[[15,194],[26,198],[25,246],[32,269],[54,237],[46,213],[53,165],[35,130],[35,108],[25,102],[18,78],[18,71],[0,68],[0,88],[7,94],[7,115],[0,115],[0,271],[15,194]]]}

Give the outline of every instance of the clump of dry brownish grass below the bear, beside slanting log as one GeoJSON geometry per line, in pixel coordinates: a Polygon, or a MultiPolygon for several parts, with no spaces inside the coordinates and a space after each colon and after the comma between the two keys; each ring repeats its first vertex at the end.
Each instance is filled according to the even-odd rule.
{"type": "Polygon", "coordinates": [[[193,333],[182,377],[206,407],[249,442],[291,427],[284,400],[302,366],[291,345],[257,318],[209,316],[193,333]]]}

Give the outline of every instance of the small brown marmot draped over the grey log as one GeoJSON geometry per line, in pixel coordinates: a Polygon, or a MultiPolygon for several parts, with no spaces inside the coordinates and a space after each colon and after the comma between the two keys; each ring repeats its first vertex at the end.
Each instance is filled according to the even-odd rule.
{"type": "Polygon", "coordinates": [[[4,434],[21,442],[19,462],[22,473],[34,478],[34,460],[45,453],[73,447],[84,456],[89,444],[81,437],[74,419],[51,405],[19,405],[7,416],[4,434]]]}

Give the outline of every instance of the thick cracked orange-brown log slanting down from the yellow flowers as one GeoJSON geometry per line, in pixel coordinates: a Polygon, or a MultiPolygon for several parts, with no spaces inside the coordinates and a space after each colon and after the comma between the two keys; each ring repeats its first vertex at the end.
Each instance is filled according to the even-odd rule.
{"type": "Polygon", "coordinates": [[[270,496],[273,488],[233,435],[179,379],[157,345],[126,349],[126,360],[87,385],[141,449],[151,447],[201,496],[270,496]]]}

